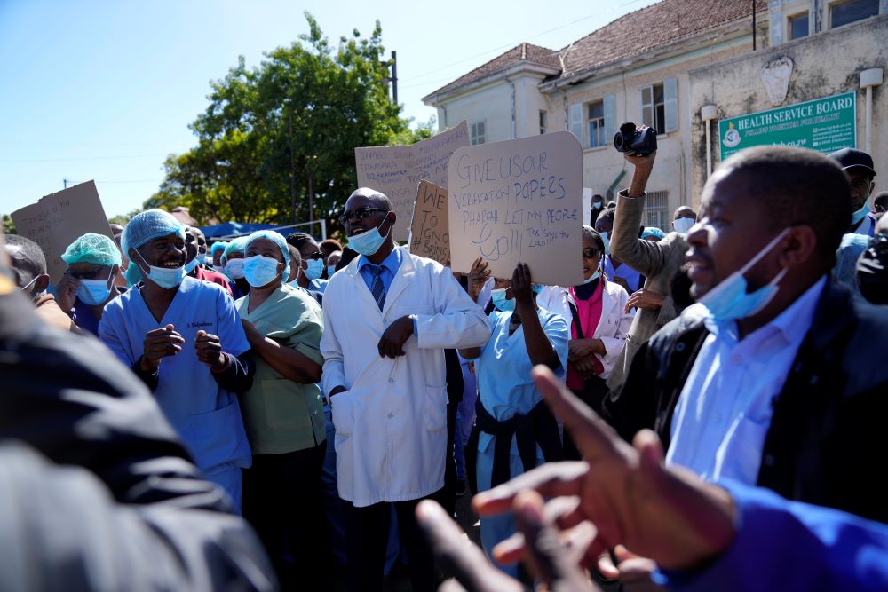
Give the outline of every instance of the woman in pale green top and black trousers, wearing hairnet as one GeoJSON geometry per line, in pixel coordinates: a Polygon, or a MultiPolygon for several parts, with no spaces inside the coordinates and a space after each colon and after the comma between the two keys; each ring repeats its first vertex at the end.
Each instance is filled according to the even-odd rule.
{"type": "Polygon", "coordinates": [[[256,529],[283,589],[328,589],[329,548],[321,511],[327,451],[321,389],[321,306],[289,277],[280,233],[260,230],[244,246],[250,294],[235,305],[255,353],[253,388],[241,396],[253,466],[243,471],[243,516],[256,529]],[[289,560],[288,560],[289,558],[289,560]]]}

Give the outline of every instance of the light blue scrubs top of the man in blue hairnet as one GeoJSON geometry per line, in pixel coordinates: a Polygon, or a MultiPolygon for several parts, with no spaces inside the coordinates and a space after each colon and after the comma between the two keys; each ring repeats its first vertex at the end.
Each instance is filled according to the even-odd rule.
{"type": "Polygon", "coordinates": [[[161,360],[154,395],[167,420],[185,440],[199,469],[225,463],[251,464],[250,445],[234,392],[216,383],[210,367],[197,359],[194,339],[200,330],[218,335],[222,350],[234,356],[250,349],[234,300],[225,288],[209,281],[182,280],[170,307],[158,322],[138,288],[108,303],[99,322],[99,339],[127,367],[144,351],[145,334],[173,325],[185,343],[175,356],[161,360]]]}

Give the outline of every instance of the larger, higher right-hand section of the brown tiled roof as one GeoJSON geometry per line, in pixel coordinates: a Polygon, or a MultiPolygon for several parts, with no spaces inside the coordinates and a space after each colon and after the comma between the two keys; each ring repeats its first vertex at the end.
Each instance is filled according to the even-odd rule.
{"type": "MultiPolygon", "coordinates": [[[[751,14],[749,0],[663,0],[625,14],[562,49],[562,76],[626,59],[751,14]]],[[[766,0],[756,0],[759,12],[766,0]]]]}

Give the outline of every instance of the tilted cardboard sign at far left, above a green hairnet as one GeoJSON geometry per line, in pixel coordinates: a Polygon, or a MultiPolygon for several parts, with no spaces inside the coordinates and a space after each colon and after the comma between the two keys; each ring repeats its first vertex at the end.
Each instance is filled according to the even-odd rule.
{"type": "Polygon", "coordinates": [[[10,216],[18,233],[43,249],[52,283],[58,282],[67,269],[61,254],[77,238],[85,233],[98,233],[114,240],[92,181],[50,193],[10,216]]]}

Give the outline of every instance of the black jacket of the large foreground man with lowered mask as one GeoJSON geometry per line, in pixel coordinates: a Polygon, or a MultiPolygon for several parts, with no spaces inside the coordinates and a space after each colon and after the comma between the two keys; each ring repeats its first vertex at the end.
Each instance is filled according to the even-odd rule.
{"type": "MultiPolygon", "coordinates": [[[[648,428],[668,448],[678,395],[708,334],[692,308],[638,351],[622,390],[604,406],[622,438],[648,428]]],[[[888,487],[876,470],[888,421],[886,351],[888,307],[828,283],[773,400],[757,485],[888,522],[888,487]]]]}

